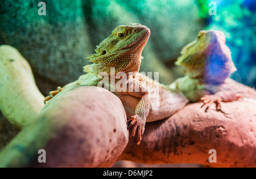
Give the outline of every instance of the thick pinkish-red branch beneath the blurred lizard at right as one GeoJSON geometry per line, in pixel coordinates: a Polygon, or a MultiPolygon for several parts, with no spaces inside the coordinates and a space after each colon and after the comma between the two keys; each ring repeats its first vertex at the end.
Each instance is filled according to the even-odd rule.
{"type": "Polygon", "coordinates": [[[146,164],[197,163],[209,167],[256,167],[256,106],[243,101],[215,106],[205,113],[189,104],[172,117],[146,124],[143,140],[129,140],[119,160],[146,164]],[[209,163],[210,149],[217,163],[209,163]]]}

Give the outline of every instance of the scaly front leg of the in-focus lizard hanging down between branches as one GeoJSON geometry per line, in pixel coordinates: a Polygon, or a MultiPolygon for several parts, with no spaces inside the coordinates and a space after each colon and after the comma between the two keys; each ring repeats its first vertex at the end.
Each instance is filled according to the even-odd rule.
{"type": "Polygon", "coordinates": [[[138,143],[141,143],[142,135],[144,133],[146,117],[150,111],[150,97],[146,87],[143,87],[141,83],[134,80],[133,82],[129,82],[129,87],[127,88],[129,95],[135,97],[141,97],[141,100],[136,106],[135,115],[130,118],[127,122],[130,122],[130,126],[133,126],[133,130],[131,132],[131,137],[134,137],[136,131],[138,131],[138,143]]]}

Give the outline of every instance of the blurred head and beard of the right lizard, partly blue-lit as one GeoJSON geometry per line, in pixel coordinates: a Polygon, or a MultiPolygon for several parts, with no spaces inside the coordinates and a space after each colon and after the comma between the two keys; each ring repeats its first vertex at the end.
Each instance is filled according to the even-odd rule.
{"type": "Polygon", "coordinates": [[[200,31],[197,39],[181,50],[176,65],[184,66],[187,75],[208,84],[224,83],[237,70],[226,37],[217,30],[200,31]]]}

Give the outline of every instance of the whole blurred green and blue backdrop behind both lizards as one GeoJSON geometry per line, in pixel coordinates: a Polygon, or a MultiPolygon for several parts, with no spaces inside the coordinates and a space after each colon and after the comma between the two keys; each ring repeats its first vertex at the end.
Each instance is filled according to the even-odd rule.
{"type": "Polygon", "coordinates": [[[158,71],[170,84],[183,76],[174,65],[183,46],[202,29],[225,33],[238,69],[233,79],[256,86],[256,1],[215,0],[44,0],[46,16],[38,15],[40,0],[5,0],[0,6],[0,45],[17,48],[30,62],[44,95],[83,74],[88,55],[121,24],[141,23],[151,29],[143,50],[141,71],[158,71]]]}

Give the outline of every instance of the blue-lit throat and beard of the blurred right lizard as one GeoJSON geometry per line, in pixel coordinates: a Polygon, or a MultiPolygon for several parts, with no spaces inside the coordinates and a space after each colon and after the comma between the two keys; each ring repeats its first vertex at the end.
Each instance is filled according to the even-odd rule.
{"type": "Polygon", "coordinates": [[[185,66],[185,74],[193,79],[199,79],[205,84],[222,84],[233,73],[234,63],[231,53],[225,44],[209,45],[201,53],[192,54],[185,66]]]}

